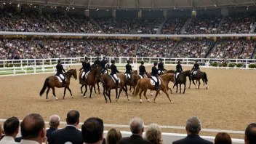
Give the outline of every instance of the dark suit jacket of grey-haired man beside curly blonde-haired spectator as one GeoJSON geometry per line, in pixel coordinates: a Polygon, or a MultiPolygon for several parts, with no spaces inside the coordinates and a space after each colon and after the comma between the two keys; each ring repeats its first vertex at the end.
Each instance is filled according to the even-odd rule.
{"type": "Polygon", "coordinates": [[[121,139],[120,144],[153,144],[144,140],[140,135],[132,135],[131,137],[124,137],[121,139]]]}

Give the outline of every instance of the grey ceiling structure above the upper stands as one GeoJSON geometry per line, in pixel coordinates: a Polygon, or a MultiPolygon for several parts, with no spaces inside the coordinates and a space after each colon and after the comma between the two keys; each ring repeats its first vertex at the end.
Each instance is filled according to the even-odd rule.
{"type": "Polygon", "coordinates": [[[256,6],[256,0],[2,0],[84,9],[204,9],[256,6]]]}

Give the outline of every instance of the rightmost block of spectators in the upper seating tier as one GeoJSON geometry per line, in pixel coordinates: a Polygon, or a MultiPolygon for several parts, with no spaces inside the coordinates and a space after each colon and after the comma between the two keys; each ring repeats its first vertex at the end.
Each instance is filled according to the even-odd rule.
{"type": "Polygon", "coordinates": [[[255,24],[255,12],[239,12],[224,18],[223,24],[217,30],[220,34],[250,33],[255,24]]]}

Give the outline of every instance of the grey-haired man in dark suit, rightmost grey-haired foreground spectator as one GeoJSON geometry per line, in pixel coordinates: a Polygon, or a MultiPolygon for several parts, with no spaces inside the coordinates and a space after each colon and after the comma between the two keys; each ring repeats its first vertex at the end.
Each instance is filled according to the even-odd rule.
{"type": "Polygon", "coordinates": [[[187,120],[185,130],[187,131],[188,136],[181,140],[177,140],[172,144],[213,144],[199,136],[201,121],[196,116],[192,116],[187,120]]]}

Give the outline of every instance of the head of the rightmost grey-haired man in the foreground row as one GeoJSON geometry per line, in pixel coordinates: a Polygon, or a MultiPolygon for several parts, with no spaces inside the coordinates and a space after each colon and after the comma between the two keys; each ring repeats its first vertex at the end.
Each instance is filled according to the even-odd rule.
{"type": "Polygon", "coordinates": [[[186,122],[186,126],[188,129],[188,132],[198,134],[201,130],[201,121],[196,116],[192,116],[188,118],[186,122]]]}

